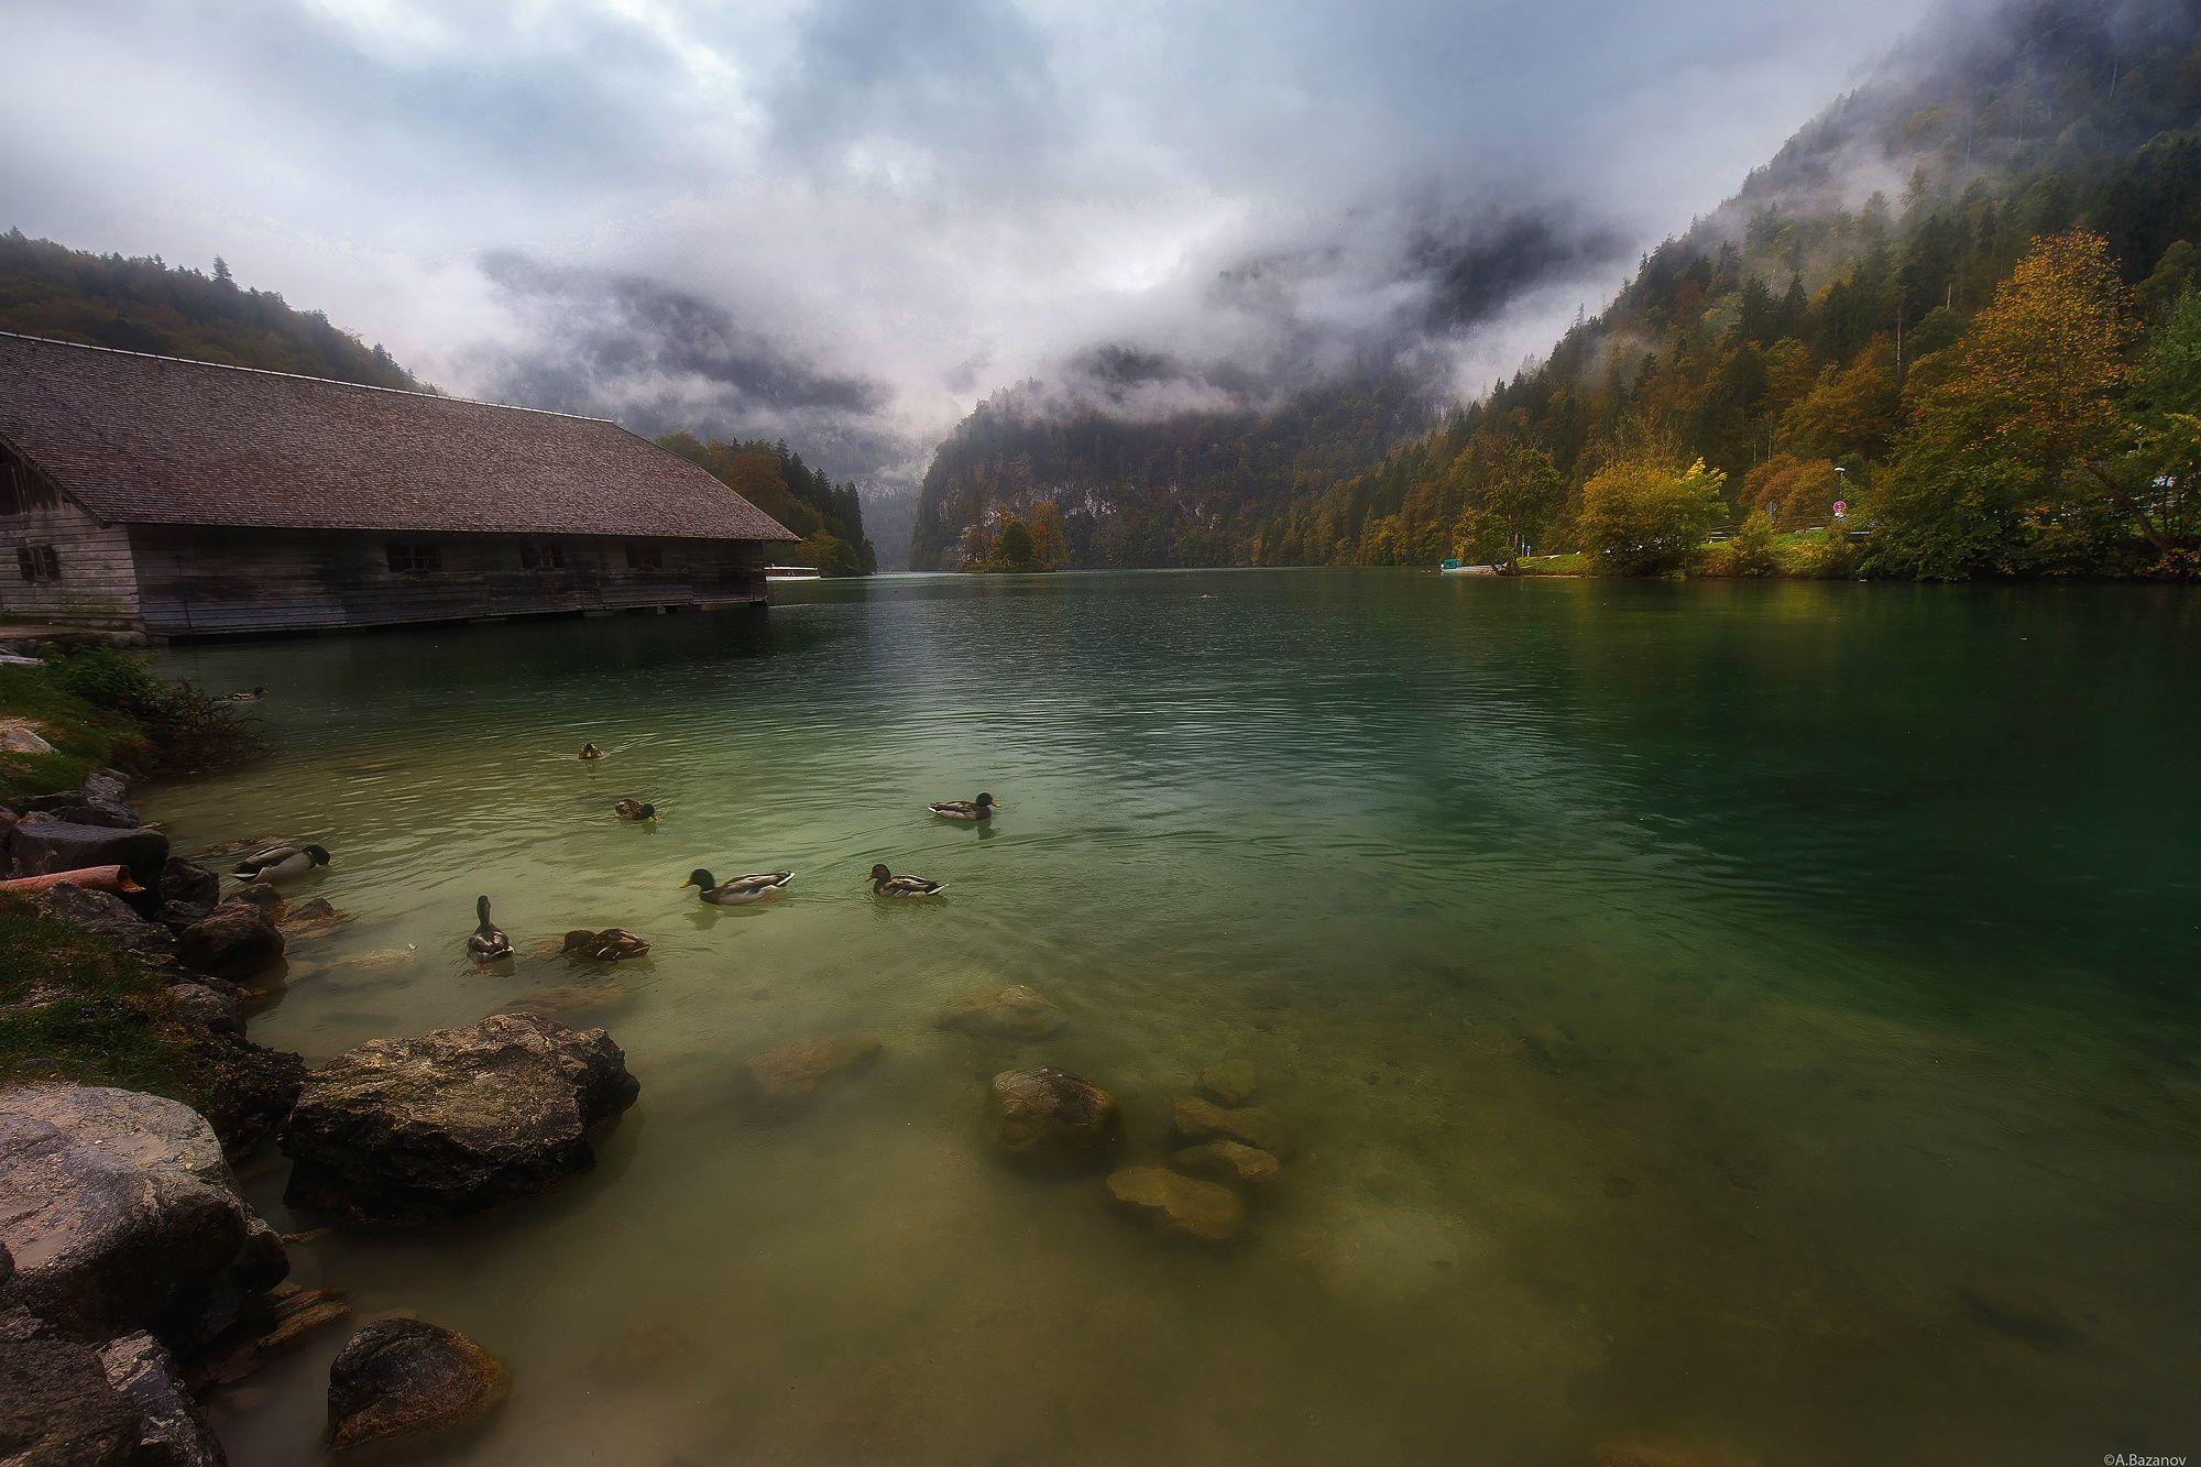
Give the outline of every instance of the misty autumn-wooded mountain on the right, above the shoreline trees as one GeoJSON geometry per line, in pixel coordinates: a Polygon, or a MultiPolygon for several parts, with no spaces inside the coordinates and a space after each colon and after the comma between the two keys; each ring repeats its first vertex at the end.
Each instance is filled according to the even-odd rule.
{"type": "Polygon", "coordinates": [[[2170,315],[2201,264],[2197,42],[2186,0],[1948,13],[1543,363],[1422,432],[1411,392],[1365,383],[1162,419],[997,394],[940,445],[911,562],[953,566],[1039,500],[1081,566],[1510,555],[1574,542],[1620,460],[1701,458],[1730,518],[1825,518],[1902,458],[2036,240],[2100,236],[2142,324],[2170,315]]]}

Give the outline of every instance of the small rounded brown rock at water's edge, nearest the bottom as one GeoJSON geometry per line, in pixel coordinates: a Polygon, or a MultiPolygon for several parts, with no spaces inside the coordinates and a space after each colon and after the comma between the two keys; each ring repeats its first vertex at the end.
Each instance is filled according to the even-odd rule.
{"type": "Polygon", "coordinates": [[[328,1445],[359,1447],[480,1421],[511,1388],[495,1355],[425,1319],[376,1319],[328,1368],[328,1445]]]}

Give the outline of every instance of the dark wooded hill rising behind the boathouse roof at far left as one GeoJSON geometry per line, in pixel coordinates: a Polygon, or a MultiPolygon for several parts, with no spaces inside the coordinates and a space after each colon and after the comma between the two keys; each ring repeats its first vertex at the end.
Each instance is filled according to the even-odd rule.
{"type": "Polygon", "coordinates": [[[273,291],[247,291],[213,262],[202,275],[0,233],[0,330],[420,390],[381,346],[337,330],[319,311],[295,311],[273,291]]]}

